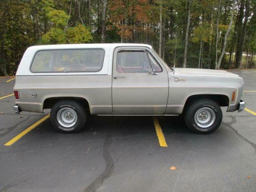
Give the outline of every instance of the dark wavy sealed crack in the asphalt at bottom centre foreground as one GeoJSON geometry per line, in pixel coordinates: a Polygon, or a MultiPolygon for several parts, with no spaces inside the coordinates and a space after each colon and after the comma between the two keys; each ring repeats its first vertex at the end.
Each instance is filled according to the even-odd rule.
{"type": "MultiPolygon", "coordinates": [[[[108,133],[103,144],[103,158],[106,163],[106,168],[98,176],[91,184],[85,188],[85,192],[95,192],[99,187],[101,187],[102,183],[112,175],[114,171],[114,161],[111,156],[111,149],[112,149],[112,134],[108,133]]],[[[118,160],[118,159],[117,159],[118,160]]]]}

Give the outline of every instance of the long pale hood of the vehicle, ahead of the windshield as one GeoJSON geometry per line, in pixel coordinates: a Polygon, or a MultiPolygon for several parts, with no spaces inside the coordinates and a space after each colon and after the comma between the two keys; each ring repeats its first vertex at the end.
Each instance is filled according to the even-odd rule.
{"type": "Polygon", "coordinates": [[[214,69],[192,69],[192,68],[175,68],[175,75],[214,75],[224,77],[239,77],[239,75],[229,73],[224,70],[214,69]]]}

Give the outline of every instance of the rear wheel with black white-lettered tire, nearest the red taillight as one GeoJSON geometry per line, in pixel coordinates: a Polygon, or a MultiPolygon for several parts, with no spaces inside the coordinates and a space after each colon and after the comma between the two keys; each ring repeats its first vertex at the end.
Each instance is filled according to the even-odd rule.
{"type": "Polygon", "coordinates": [[[84,128],[86,119],[87,119],[87,113],[86,113],[85,107],[83,107],[80,103],[77,103],[75,101],[70,101],[70,100],[63,100],[63,101],[57,102],[52,107],[50,119],[53,124],[53,128],[55,130],[62,133],[76,133],[76,132],[79,132],[82,128],[84,128]],[[62,120],[63,118],[61,118],[62,114],[63,114],[64,121],[66,120],[65,118],[70,117],[71,121],[74,118],[75,120],[73,120],[74,121],[73,123],[75,124],[73,125],[73,123],[68,124],[64,122],[62,120]],[[65,114],[67,115],[65,116],[65,114]],[[71,126],[71,127],[67,127],[67,126],[71,126]]]}

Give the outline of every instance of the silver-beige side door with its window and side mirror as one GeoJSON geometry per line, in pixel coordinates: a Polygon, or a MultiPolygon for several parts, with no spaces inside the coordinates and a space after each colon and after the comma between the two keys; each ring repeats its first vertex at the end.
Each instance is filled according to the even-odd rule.
{"type": "Polygon", "coordinates": [[[149,48],[118,47],[114,50],[113,113],[164,114],[168,91],[167,71],[149,48]]]}

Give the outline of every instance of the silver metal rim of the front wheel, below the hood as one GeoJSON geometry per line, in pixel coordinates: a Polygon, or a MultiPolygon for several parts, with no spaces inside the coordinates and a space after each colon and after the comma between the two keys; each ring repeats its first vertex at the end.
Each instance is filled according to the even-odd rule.
{"type": "Polygon", "coordinates": [[[208,128],[215,122],[215,112],[208,107],[203,107],[195,113],[195,123],[201,128],[208,128]]]}

